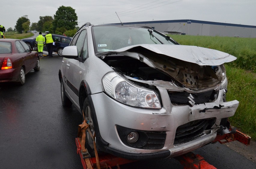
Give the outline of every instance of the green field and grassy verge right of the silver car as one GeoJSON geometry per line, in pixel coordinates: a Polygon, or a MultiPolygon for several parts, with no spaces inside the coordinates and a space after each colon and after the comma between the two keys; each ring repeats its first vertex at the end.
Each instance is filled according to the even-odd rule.
{"type": "Polygon", "coordinates": [[[239,106],[231,125],[256,140],[256,38],[169,35],[181,45],[216,49],[237,59],[225,63],[228,78],[227,101],[239,106]]]}

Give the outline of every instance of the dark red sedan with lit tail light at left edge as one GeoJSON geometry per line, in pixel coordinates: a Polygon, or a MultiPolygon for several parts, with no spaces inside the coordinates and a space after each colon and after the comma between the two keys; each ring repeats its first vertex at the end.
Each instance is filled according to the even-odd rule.
{"type": "Polygon", "coordinates": [[[25,83],[25,74],[40,70],[37,51],[32,51],[20,39],[0,39],[0,83],[25,83]]]}

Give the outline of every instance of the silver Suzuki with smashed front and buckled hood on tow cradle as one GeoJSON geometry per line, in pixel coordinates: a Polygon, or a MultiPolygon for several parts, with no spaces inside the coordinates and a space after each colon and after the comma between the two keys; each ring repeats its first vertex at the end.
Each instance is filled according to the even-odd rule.
{"type": "MultiPolygon", "coordinates": [[[[62,104],[84,111],[99,153],[175,157],[229,132],[239,104],[226,101],[230,54],[179,45],[150,27],[87,22],[62,56],[62,104]]],[[[95,156],[90,134],[85,146],[95,156]]]]}

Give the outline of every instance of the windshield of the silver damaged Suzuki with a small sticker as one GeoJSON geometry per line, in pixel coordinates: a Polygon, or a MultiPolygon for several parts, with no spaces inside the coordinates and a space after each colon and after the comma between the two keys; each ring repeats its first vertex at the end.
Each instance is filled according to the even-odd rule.
{"type": "Polygon", "coordinates": [[[92,33],[96,54],[131,45],[174,44],[170,39],[148,28],[102,25],[93,26],[92,33]]]}

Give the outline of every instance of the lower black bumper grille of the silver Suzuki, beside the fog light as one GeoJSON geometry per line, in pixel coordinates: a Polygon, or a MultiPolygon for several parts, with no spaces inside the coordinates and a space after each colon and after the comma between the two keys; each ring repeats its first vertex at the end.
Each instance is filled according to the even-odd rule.
{"type": "Polygon", "coordinates": [[[175,133],[174,144],[192,141],[204,135],[204,130],[211,129],[215,118],[195,120],[179,126],[175,133]]]}

